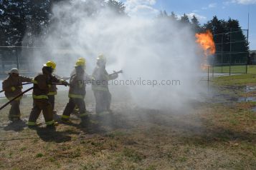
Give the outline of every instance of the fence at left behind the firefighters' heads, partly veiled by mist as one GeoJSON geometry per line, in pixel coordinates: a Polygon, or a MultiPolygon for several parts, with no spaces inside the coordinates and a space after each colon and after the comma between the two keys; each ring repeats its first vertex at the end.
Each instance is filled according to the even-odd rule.
{"type": "Polygon", "coordinates": [[[24,76],[36,76],[41,72],[42,64],[52,59],[58,64],[57,72],[67,76],[74,69],[75,60],[82,56],[83,51],[71,49],[0,46],[0,79],[6,78],[12,68],[19,69],[24,76]]]}

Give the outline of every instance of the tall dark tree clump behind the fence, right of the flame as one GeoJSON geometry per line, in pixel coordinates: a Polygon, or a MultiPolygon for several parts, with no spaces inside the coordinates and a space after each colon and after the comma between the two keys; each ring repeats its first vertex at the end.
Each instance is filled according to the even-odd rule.
{"type": "Polygon", "coordinates": [[[248,61],[249,44],[242,33],[239,21],[229,19],[219,20],[214,16],[212,20],[204,24],[204,31],[212,31],[216,46],[215,63],[235,64],[248,61]]]}

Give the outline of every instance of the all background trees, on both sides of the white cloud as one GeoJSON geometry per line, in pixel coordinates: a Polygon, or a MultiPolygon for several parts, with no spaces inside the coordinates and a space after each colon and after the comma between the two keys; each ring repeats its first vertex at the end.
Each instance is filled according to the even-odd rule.
{"type": "MultiPolygon", "coordinates": [[[[54,23],[52,17],[52,6],[56,3],[69,2],[71,0],[0,0],[0,46],[37,46],[37,37],[41,39],[47,37],[50,25],[54,23]],[[26,39],[24,39],[26,38],[26,39]]],[[[87,6],[97,2],[101,8],[109,7],[118,15],[125,15],[125,4],[115,0],[94,0],[81,1],[81,6],[85,6],[87,15],[97,13],[97,9],[92,10],[87,6]]],[[[199,19],[184,14],[180,18],[174,12],[167,14],[161,11],[158,18],[166,18],[177,22],[181,26],[191,26],[194,33],[201,33],[206,30],[214,34],[214,42],[217,47],[217,64],[222,63],[245,63],[249,57],[249,44],[247,37],[241,29],[240,23],[236,19],[213,19],[201,25],[199,19]]]]}

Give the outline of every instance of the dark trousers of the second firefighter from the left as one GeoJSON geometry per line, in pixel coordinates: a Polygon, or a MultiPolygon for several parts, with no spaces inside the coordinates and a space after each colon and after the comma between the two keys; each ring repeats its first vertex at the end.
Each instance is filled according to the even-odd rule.
{"type": "Polygon", "coordinates": [[[29,116],[29,121],[36,122],[41,111],[44,115],[45,122],[53,120],[52,105],[47,99],[33,99],[33,108],[29,116]]]}

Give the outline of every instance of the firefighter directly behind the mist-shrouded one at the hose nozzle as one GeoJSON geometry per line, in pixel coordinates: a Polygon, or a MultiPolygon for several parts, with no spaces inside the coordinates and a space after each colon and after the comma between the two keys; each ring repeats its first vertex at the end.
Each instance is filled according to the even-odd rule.
{"type": "Polygon", "coordinates": [[[85,107],[85,86],[90,81],[90,76],[85,73],[85,61],[77,60],[75,64],[75,72],[70,77],[69,102],[62,114],[62,122],[71,124],[70,114],[74,111],[75,106],[78,107],[82,124],[86,124],[88,114],[85,107]]]}

